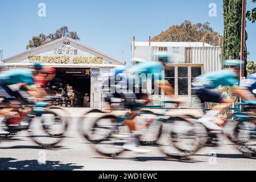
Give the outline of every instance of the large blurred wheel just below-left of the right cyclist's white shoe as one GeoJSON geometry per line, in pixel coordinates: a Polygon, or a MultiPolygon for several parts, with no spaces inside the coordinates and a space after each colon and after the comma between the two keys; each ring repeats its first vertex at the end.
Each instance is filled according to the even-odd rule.
{"type": "Polygon", "coordinates": [[[207,130],[200,123],[181,117],[171,117],[168,121],[170,123],[166,124],[168,129],[160,147],[167,156],[191,156],[206,143],[207,130]]]}

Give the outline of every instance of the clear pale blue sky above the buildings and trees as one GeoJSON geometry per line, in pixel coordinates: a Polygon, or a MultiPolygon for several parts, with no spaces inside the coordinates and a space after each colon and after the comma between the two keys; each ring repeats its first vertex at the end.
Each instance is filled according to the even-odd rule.
{"type": "MultiPolygon", "coordinates": [[[[247,9],[256,6],[247,0],[247,9]]],[[[0,49],[4,59],[26,51],[28,40],[61,26],[77,31],[81,43],[114,57],[131,59],[133,36],[148,41],[184,20],[209,22],[223,34],[222,0],[3,0],[0,4],[0,49]],[[46,17],[38,4],[46,3],[46,17]],[[217,17],[210,17],[209,3],[216,3],[217,17]]],[[[256,23],[247,22],[249,60],[256,61],[256,23]]]]}

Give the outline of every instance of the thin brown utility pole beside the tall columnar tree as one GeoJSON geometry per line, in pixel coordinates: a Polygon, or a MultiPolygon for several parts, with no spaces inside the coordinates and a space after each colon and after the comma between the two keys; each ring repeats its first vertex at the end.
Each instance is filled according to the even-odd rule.
{"type": "Polygon", "coordinates": [[[241,52],[240,52],[240,80],[243,76],[242,61],[245,61],[245,24],[246,24],[246,0],[242,0],[242,28],[241,28],[241,52]]]}

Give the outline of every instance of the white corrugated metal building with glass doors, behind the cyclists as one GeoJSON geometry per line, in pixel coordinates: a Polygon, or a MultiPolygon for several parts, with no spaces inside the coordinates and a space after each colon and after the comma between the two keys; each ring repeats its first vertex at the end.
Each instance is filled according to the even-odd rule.
{"type": "MultiPolygon", "coordinates": [[[[193,78],[221,69],[221,47],[202,42],[133,42],[133,58],[156,60],[156,53],[167,53],[170,57],[164,77],[174,86],[175,96],[186,101],[181,108],[193,109],[200,106],[200,100],[193,94],[193,78]]],[[[164,93],[152,96],[154,103],[164,100],[164,93]]]]}

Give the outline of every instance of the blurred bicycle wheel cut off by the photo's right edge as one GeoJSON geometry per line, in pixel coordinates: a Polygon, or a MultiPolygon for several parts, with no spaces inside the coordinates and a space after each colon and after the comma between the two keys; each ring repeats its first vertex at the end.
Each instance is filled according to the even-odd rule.
{"type": "Polygon", "coordinates": [[[227,137],[236,145],[236,148],[245,156],[256,156],[256,126],[251,122],[229,121],[233,124],[233,132],[227,137]]]}

